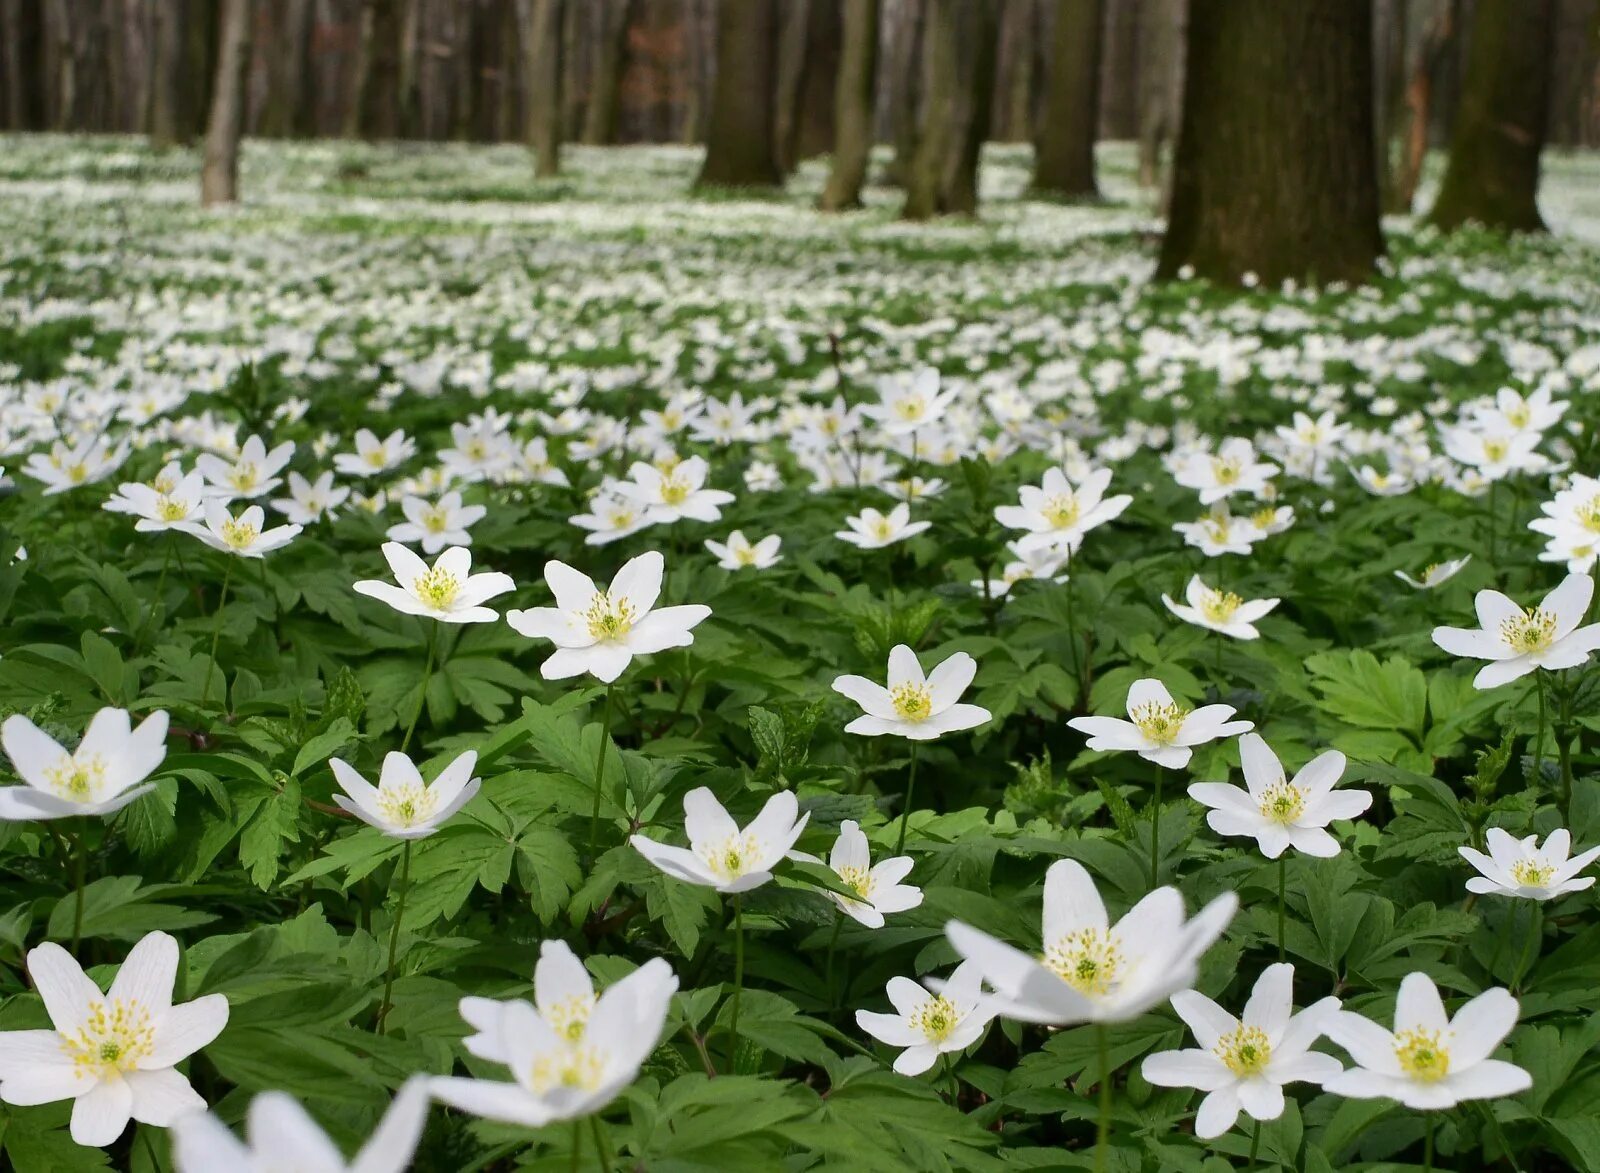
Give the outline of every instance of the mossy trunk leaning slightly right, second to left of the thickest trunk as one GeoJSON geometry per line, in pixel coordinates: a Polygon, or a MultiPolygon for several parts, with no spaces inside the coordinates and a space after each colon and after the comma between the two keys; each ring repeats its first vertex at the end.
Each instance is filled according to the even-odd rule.
{"type": "Polygon", "coordinates": [[[931,0],[923,38],[923,125],[901,216],[973,214],[978,211],[978,160],[994,104],[998,6],[931,0]]]}

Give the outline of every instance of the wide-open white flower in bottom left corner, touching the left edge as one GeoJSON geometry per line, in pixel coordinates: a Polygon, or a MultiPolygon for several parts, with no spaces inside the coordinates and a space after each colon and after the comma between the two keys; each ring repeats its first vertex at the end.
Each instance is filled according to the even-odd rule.
{"type": "Polygon", "coordinates": [[[91,1147],[115,1141],[130,1119],[166,1128],[205,1111],[174,1064],[222,1034],[227,999],[206,994],[173,1005],[178,941],[147,933],[106,994],[58,944],[30,949],[27,973],[53,1029],[0,1032],[0,1099],[75,1101],[72,1139],[91,1147]]]}

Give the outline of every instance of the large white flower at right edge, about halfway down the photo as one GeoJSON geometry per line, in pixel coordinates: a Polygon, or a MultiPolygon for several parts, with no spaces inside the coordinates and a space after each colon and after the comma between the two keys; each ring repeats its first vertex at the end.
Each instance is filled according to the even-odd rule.
{"type": "Polygon", "coordinates": [[[1578,667],[1600,648],[1600,623],[1578,626],[1594,589],[1587,574],[1568,574],[1542,603],[1528,610],[1499,591],[1478,591],[1480,629],[1435,627],[1434,643],[1453,656],[1491,661],[1472,679],[1475,688],[1510,683],[1539,667],[1578,667]]]}

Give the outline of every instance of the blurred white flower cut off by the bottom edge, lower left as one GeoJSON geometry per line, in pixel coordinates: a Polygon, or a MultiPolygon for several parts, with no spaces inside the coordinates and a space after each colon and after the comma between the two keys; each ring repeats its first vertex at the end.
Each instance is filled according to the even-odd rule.
{"type": "Polygon", "coordinates": [[[293,1096],[262,1091],[250,1101],[243,1141],[210,1112],[174,1120],[173,1160],[178,1173],[405,1173],[422,1139],[427,1109],[427,1079],[413,1075],[355,1160],[346,1163],[293,1096]]]}

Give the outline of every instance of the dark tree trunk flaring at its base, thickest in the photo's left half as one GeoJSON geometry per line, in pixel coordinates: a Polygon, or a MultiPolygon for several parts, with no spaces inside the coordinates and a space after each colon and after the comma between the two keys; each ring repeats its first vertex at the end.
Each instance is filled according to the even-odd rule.
{"type": "Polygon", "coordinates": [[[773,0],[718,0],[717,88],[699,187],[778,187],[773,142],[773,66],[778,8],[773,0]]]}

